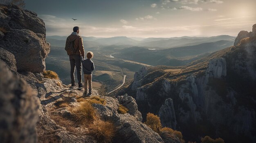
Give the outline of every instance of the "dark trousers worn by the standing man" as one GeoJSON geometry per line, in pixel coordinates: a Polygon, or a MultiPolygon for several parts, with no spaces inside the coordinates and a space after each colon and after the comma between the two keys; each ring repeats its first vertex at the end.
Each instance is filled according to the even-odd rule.
{"type": "Polygon", "coordinates": [[[70,55],[70,77],[71,84],[75,84],[75,67],[78,79],[78,85],[82,85],[82,63],[80,55],[70,55]]]}

